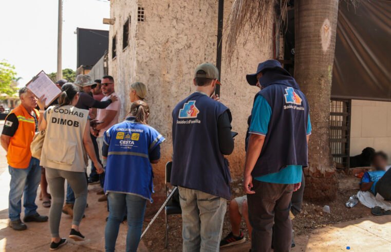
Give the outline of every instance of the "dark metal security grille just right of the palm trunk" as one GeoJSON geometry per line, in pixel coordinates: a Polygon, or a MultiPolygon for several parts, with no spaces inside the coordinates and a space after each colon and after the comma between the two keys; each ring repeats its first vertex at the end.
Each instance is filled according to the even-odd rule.
{"type": "Polygon", "coordinates": [[[330,102],[330,151],[338,169],[349,167],[351,100],[330,102]]]}

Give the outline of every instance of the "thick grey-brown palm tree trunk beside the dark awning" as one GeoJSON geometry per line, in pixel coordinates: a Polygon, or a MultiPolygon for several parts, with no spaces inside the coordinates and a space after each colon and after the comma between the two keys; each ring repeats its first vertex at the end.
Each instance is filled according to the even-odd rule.
{"type": "Polygon", "coordinates": [[[312,135],[304,197],[336,198],[338,182],[329,149],[332,64],[338,0],[296,0],[294,77],[310,104],[312,135]]]}

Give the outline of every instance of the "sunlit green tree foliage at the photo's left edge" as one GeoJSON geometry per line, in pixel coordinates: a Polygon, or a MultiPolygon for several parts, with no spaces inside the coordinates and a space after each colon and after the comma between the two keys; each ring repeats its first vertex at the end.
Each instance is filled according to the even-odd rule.
{"type": "Polygon", "coordinates": [[[13,95],[17,92],[15,67],[6,60],[0,61],[0,94],[13,95]]]}

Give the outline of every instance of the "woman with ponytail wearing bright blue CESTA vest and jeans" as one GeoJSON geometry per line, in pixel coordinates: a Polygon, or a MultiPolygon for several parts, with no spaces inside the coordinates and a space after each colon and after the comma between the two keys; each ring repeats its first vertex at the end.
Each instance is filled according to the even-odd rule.
{"type": "Polygon", "coordinates": [[[136,251],[144,220],[146,201],[152,203],[151,163],[160,159],[160,144],[165,140],[147,125],[150,109],[141,100],[132,103],[125,121],[104,135],[103,157],[107,157],[104,191],[109,204],[105,229],[105,249],[114,251],[120,223],[127,213],[126,251],[136,251]]]}

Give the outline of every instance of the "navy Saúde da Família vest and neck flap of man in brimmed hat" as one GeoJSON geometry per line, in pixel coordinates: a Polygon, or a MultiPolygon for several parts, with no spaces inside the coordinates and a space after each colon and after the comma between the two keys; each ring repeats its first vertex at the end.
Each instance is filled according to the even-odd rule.
{"type": "Polygon", "coordinates": [[[251,175],[277,173],[287,165],[308,166],[307,98],[293,77],[280,72],[266,71],[259,82],[263,89],[255,98],[262,95],[266,99],[271,107],[271,118],[251,175]]]}

